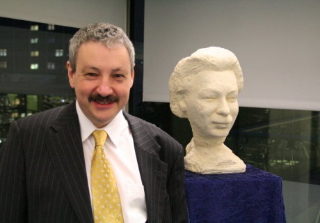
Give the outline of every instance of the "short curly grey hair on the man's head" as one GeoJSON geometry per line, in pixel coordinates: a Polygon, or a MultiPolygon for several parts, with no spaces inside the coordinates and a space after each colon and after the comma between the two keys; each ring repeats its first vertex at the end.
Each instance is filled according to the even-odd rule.
{"type": "Polygon", "coordinates": [[[109,48],[115,45],[125,45],[129,53],[131,70],[134,69],[134,45],[129,40],[125,31],[118,26],[99,22],[83,27],[70,39],[69,61],[74,72],[76,71],[79,47],[82,43],[89,41],[101,43],[109,48]]]}

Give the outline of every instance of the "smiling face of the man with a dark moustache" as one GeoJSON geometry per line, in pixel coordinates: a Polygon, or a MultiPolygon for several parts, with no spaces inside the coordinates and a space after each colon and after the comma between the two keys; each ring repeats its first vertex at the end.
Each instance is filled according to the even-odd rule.
{"type": "Polygon", "coordinates": [[[110,123],[127,104],[134,71],[124,45],[110,49],[99,43],[83,43],[77,54],[76,72],[69,62],[67,70],[82,112],[97,128],[110,123]]]}

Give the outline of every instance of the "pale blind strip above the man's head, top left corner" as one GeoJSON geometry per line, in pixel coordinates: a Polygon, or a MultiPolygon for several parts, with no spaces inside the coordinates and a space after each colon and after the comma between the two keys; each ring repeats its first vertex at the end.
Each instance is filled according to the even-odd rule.
{"type": "Polygon", "coordinates": [[[81,28],[109,22],[127,28],[126,0],[0,0],[0,17],[81,28]]]}

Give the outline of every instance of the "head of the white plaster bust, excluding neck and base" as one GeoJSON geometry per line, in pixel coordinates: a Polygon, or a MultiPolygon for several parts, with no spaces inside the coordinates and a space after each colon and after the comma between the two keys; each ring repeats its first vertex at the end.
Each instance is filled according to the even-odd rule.
{"type": "Polygon", "coordinates": [[[216,136],[226,137],[237,118],[237,95],[243,89],[239,61],[221,47],[198,49],[177,63],[169,89],[171,111],[180,118],[188,118],[193,132],[200,126],[210,128],[207,120],[221,123],[216,128],[223,131],[220,134],[216,131],[216,136]],[[210,117],[212,114],[216,117],[210,117]]]}

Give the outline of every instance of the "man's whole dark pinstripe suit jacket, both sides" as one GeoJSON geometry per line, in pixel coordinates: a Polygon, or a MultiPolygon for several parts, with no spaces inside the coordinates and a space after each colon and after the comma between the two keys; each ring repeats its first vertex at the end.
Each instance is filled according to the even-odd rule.
{"type": "MultiPolygon", "coordinates": [[[[182,146],[125,114],[148,222],[187,222],[182,146]]],[[[0,148],[0,222],[93,222],[75,103],[14,121],[0,148]]]]}

